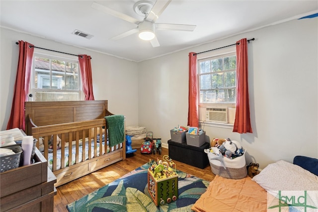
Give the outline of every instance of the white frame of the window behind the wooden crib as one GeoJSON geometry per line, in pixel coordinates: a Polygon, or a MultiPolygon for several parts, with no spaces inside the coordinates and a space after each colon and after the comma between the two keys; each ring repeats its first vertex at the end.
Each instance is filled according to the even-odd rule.
{"type": "MultiPolygon", "coordinates": [[[[32,58],[33,63],[34,63],[35,57],[50,58],[50,59],[54,59],[54,60],[62,60],[62,61],[73,62],[73,63],[79,64],[79,59],[77,56],[72,56],[72,55],[53,52],[53,51],[49,51],[49,50],[37,49],[37,48],[34,48],[33,58],[32,58]]],[[[50,74],[51,74],[51,79],[52,79],[52,72],[50,74]]],[[[78,77],[79,77],[79,89],[78,90],[67,90],[67,89],[62,90],[59,88],[58,89],[35,88],[35,68],[32,65],[29,93],[35,94],[35,92],[38,92],[38,91],[42,91],[42,92],[46,92],[46,91],[48,91],[48,92],[50,92],[50,91],[51,92],[79,92],[79,100],[84,100],[84,94],[82,92],[81,79],[80,79],[80,69],[79,69],[78,77]]],[[[52,82],[50,82],[50,83],[52,84],[52,82]]],[[[38,86],[39,86],[39,84],[40,85],[42,84],[42,80],[38,80],[38,86]]],[[[30,98],[29,101],[33,101],[33,99],[30,98]]]]}

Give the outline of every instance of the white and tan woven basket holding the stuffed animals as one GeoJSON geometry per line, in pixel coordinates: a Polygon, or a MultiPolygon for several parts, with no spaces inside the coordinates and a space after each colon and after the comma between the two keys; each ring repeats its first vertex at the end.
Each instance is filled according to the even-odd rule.
{"type": "MultiPolygon", "coordinates": [[[[204,149],[204,152],[208,154],[209,162],[211,165],[211,170],[215,175],[219,175],[224,178],[230,179],[242,179],[247,175],[246,169],[246,161],[245,161],[245,152],[243,155],[236,157],[234,159],[227,158],[222,156],[224,161],[224,165],[226,169],[223,167],[223,164],[214,153],[210,152],[208,149],[204,149]]],[[[219,157],[220,159],[221,157],[219,157]]]]}

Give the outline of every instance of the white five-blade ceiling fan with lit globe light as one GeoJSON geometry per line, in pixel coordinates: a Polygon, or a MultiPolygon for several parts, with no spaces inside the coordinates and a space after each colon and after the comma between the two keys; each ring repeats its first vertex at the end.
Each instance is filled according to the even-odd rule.
{"type": "Polygon", "coordinates": [[[159,15],[170,2],[171,0],[157,0],[155,4],[148,0],[136,2],[134,4],[134,10],[137,14],[145,17],[143,21],[137,20],[134,17],[113,10],[97,2],[93,2],[91,7],[137,25],[137,28],[128,30],[127,32],[116,35],[110,39],[119,40],[134,33],[139,33],[139,37],[142,40],[149,40],[153,47],[159,47],[160,45],[155,30],[193,31],[196,27],[196,25],[156,23],[159,15]]]}

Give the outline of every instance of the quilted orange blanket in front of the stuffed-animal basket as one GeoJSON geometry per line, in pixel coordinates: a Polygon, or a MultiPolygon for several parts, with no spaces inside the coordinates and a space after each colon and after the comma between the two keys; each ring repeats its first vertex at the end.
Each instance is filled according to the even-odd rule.
{"type": "Polygon", "coordinates": [[[235,180],[216,175],[191,209],[196,212],[266,212],[267,192],[248,176],[235,180]]]}

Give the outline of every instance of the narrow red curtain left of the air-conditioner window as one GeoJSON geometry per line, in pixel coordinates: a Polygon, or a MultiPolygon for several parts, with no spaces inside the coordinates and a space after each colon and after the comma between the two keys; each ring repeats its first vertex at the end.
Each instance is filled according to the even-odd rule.
{"type": "Polygon", "coordinates": [[[188,126],[199,127],[197,55],[189,53],[189,111],[188,126]]]}

